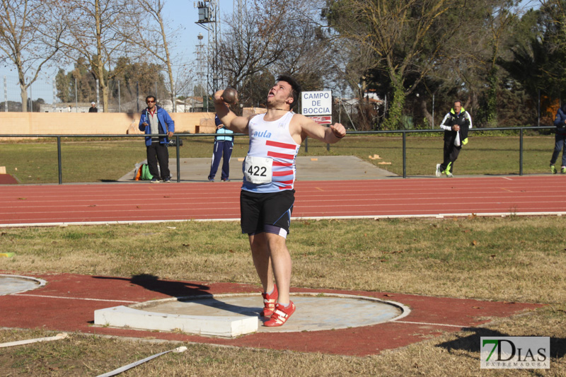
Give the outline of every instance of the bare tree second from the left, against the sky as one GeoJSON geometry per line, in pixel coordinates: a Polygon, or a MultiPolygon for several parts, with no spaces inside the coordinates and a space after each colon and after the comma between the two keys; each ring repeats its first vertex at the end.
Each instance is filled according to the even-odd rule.
{"type": "Polygon", "coordinates": [[[65,5],[59,10],[68,25],[64,51],[70,59],[84,62],[98,79],[108,112],[108,82],[120,73],[112,70],[112,64],[118,57],[131,55],[127,45],[134,28],[125,13],[136,12],[137,7],[131,0],[67,0],[65,5]]]}

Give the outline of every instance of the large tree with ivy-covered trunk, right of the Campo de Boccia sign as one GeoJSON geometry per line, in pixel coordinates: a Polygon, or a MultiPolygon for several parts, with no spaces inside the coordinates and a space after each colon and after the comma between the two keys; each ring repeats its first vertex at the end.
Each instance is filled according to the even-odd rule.
{"type": "Polygon", "coordinates": [[[373,57],[367,69],[391,82],[387,128],[400,124],[405,98],[443,57],[444,46],[463,24],[465,1],[329,0],[326,16],[341,37],[373,57]],[[413,82],[407,85],[408,77],[413,82]]]}

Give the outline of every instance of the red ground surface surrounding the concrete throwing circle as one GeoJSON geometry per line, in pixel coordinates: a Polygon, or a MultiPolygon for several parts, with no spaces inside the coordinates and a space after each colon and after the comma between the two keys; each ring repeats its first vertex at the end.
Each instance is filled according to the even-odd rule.
{"type": "MultiPolygon", "coordinates": [[[[83,332],[118,337],[145,337],[224,344],[235,347],[284,349],[366,356],[384,349],[406,347],[432,337],[456,332],[540,307],[536,303],[479,301],[472,299],[391,294],[387,292],[298,289],[292,292],[348,294],[393,300],[410,306],[410,315],[393,322],[338,330],[301,332],[255,332],[226,339],[182,332],[155,332],[91,325],[94,311],[132,302],[202,294],[255,293],[250,284],[183,282],[161,279],[100,277],[77,274],[46,274],[34,277],[48,284],[21,294],[0,296],[0,327],[40,328],[57,332],[83,332]]],[[[479,366],[478,366],[479,368],[479,366]]]]}

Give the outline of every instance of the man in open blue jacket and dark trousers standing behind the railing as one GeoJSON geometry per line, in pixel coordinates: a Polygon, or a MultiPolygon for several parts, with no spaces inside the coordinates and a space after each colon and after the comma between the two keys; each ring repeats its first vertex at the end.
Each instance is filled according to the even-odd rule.
{"type": "Polygon", "coordinates": [[[152,183],[159,182],[159,177],[163,182],[171,182],[171,172],[169,171],[169,137],[173,137],[175,132],[175,122],[163,108],[156,105],[154,95],[146,97],[147,108],[141,112],[139,117],[139,130],[146,135],[147,166],[149,173],[154,176],[152,183]],[[167,136],[157,136],[166,134],[167,136]],[[159,162],[159,168],[157,163],[159,162]],[[161,175],[159,174],[161,170],[161,175]]]}

